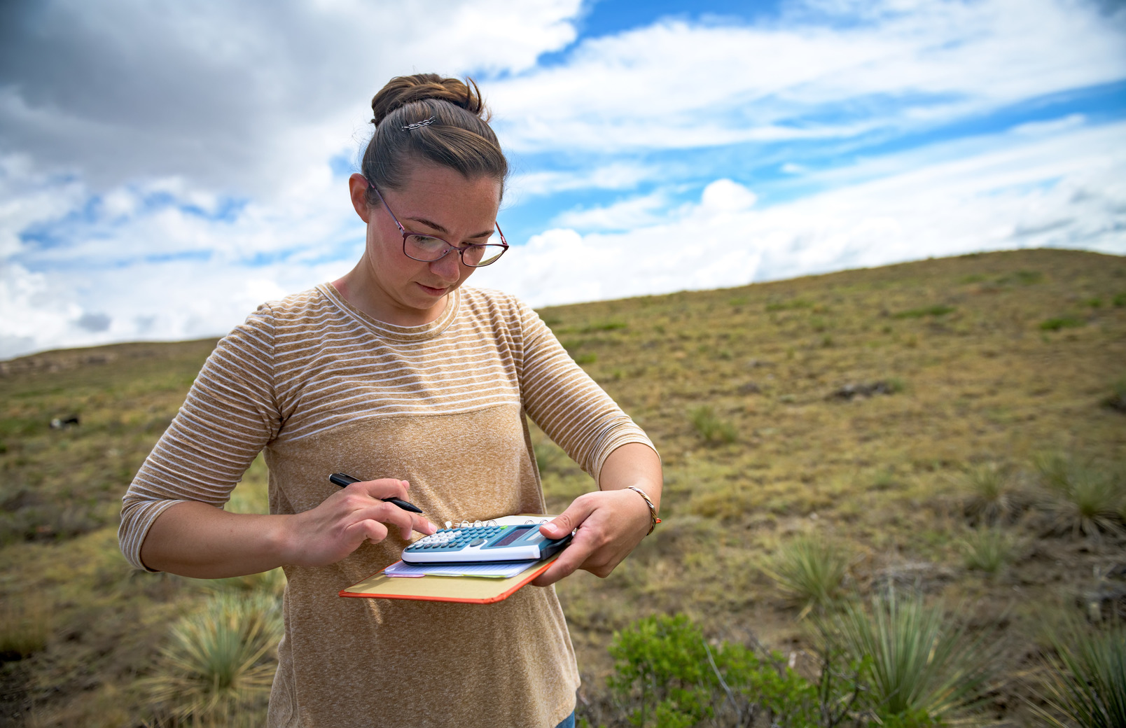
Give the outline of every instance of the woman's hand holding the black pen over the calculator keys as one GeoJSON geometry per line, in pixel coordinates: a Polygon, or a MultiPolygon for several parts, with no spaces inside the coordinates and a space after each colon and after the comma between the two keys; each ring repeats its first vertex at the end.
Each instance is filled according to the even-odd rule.
{"type": "Polygon", "coordinates": [[[388,527],[399,529],[403,540],[411,532],[429,536],[438,528],[418,513],[404,511],[381,498],[408,500],[410,483],[395,478],[361,480],[341,488],[315,509],[291,516],[283,550],[285,564],[324,566],[348,556],[364,541],[387,538],[388,527]]]}

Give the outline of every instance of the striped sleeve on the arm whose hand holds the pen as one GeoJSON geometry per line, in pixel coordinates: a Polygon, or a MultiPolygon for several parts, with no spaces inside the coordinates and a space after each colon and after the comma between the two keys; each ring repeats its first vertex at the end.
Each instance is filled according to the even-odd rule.
{"type": "Polygon", "coordinates": [[[122,498],[117,538],[129,564],[154,570],[141,561],[141,545],[157,516],[185,501],[223,507],[280,425],[274,318],[263,305],[220,340],[122,498]]]}

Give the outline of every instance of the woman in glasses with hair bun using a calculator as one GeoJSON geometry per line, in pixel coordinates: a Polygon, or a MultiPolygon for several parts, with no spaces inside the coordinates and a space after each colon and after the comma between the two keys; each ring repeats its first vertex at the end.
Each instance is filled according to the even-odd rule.
{"type": "Polygon", "coordinates": [[[475,84],[396,78],[372,108],[349,179],[363,257],[220,341],[125,495],[122,550],[200,578],[285,568],[270,726],[562,725],[579,678],[549,585],[608,575],[652,530],[660,461],[530,308],[461,288],[507,249],[507,162],[475,84]],[[337,596],[429,519],[543,512],[525,415],[599,485],[542,527],[578,529],[535,582],[549,588],[490,605],[337,596]],[[222,511],[263,449],[270,514],[222,511]],[[336,471],[366,479],[340,489],[336,471]]]}

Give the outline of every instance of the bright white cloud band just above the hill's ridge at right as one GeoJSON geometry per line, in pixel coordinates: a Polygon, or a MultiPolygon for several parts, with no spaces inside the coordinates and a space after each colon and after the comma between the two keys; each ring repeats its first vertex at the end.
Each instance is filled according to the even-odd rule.
{"type": "MultiPolygon", "coordinates": [[[[997,151],[945,161],[947,150],[900,160],[900,171],[763,209],[723,180],[659,224],[580,235],[552,230],[474,273],[474,285],[533,305],[736,286],[882,266],[926,255],[1015,248],[1126,254],[1126,123],[1049,138],[1009,133],[997,151]]],[[[888,164],[887,161],[881,162],[888,164]]],[[[863,171],[856,177],[868,177],[863,171]]]]}

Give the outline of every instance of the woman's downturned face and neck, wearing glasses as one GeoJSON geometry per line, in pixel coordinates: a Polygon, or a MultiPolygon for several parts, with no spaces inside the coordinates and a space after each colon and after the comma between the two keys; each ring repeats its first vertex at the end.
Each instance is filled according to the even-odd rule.
{"type": "Polygon", "coordinates": [[[403,235],[387,207],[409,233],[434,235],[457,246],[485,243],[495,235],[500,182],[466,179],[446,167],[417,163],[402,189],[379,190],[387,207],[367,204],[367,180],[361,174],[352,174],[349,185],[352,205],[367,223],[364,285],[355,293],[382,321],[419,325],[436,320],[445,309],[446,295],[473,268],[463,264],[454,251],[431,262],[408,258],[403,235]]]}

